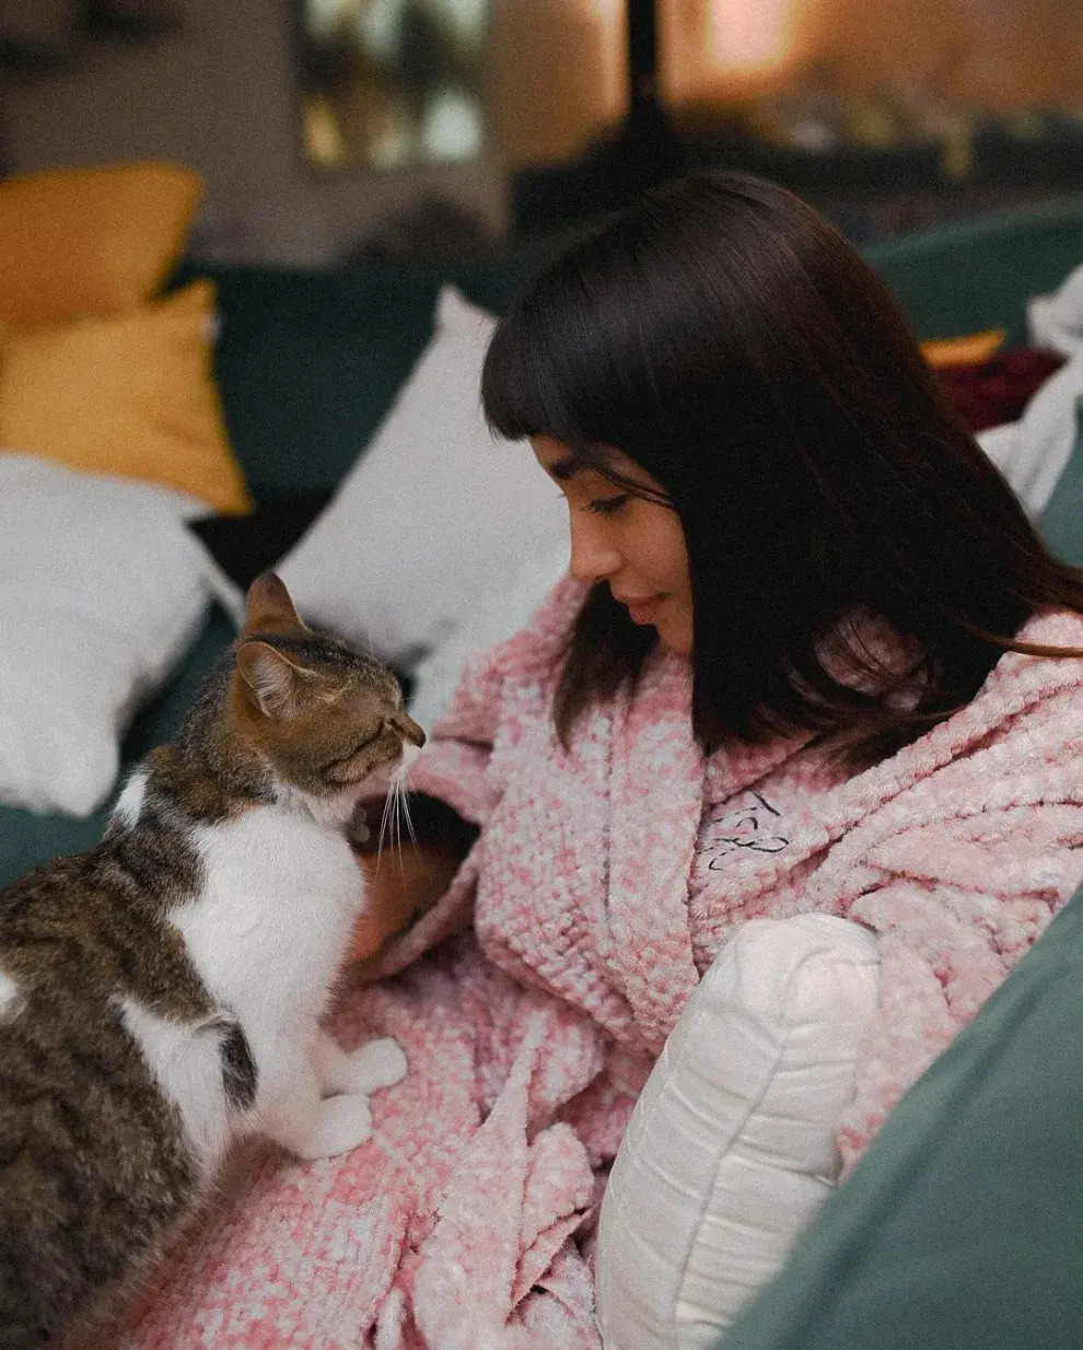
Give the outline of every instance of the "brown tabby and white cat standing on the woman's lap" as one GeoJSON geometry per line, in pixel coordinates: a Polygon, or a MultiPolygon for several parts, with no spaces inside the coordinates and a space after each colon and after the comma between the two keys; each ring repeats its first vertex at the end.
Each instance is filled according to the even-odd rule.
{"type": "Polygon", "coordinates": [[[363,907],[346,825],[423,742],[394,675],[263,574],[103,841],[0,892],[0,1347],[149,1270],[238,1138],[369,1137],[406,1064],[320,1027],[363,907]]]}

